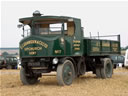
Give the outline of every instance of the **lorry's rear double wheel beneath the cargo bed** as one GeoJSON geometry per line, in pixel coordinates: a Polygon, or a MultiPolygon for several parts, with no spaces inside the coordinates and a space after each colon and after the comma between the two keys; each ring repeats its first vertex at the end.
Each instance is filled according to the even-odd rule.
{"type": "Polygon", "coordinates": [[[113,73],[113,65],[109,58],[103,60],[104,67],[96,68],[96,75],[98,78],[111,78],[113,73]]]}

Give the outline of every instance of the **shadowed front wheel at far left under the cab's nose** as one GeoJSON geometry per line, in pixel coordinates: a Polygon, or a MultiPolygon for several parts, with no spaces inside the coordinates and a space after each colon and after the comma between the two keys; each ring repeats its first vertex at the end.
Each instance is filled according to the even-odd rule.
{"type": "Polygon", "coordinates": [[[31,85],[38,82],[38,76],[30,75],[23,67],[20,69],[20,79],[24,85],[31,85]]]}

